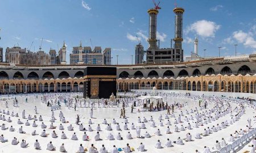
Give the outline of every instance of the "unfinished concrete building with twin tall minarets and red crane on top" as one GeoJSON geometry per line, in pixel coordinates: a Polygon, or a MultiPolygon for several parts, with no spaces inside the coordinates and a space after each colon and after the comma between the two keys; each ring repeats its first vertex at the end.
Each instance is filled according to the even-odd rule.
{"type": "MultiPolygon", "coordinates": [[[[154,2],[155,3],[155,2],[154,2]]],[[[159,5],[159,3],[158,3],[159,5]]],[[[157,15],[160,7],[156,5],[155,8],[148,10],[149,15],[149,29],[148,29],[148,49],[147,49],[147,63],[170,63],[170,62],[181,62],[183,61],[183,12],[184,9],[181,7],[175,7],[175,36],[174,36],[174,46],[171,48],[160,48],[157,45],[158,40],[156,39],[156,25],[157,25],[157,15]]]]}

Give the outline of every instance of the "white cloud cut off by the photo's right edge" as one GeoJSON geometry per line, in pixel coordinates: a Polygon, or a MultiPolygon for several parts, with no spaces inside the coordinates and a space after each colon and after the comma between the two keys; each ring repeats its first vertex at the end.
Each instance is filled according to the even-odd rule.
{"type": "Polygon", "coordinates": [[[256,48],[256,41],[254,40],[253,33],[251,32],[243,32],[243,31],[235,31],[233,32],[233,38],[238,42],[243,43],[246,47],[256,48]]]}

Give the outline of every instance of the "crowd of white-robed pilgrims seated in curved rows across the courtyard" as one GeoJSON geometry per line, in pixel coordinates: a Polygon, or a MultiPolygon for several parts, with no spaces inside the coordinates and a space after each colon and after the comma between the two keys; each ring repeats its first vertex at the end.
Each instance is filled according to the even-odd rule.
{"type": "MultiPolygon", "coordinates": [[[[123,97],[121,99],[116,99],[115,102],[118,105],[122,105],[122,110],[129,109],[131,107],[131,112],[133,112],[133,108],[136,106],[143,105],[143,101],[137,100],[136,97],[141,95],[147,95],[145,92],[137,92],[136,96],[134,97],[123,97]]],[[[241,100],[241,99],[233,99],[233,98],[226,98],[226,97],[214,97],[214,96],[196,96],[196,95],[187,95],[187,94],[166,94],[166,93],[158,93],[158,96],[165,97],[166,99],[172,99],[174,97],[179,98],[188,98],[195,101],[198,101],[198,106],[195,109],[180,111],[180,113],[174,113],[174,109],[181,109],[185,108],[187,106],[187,102],[184,103],[176,103],[174,101],[173,104],[164,104],[159,103],[155,106],[154,109],[151,107],[148,109],[148,111],[164,111],[167,110],[167,113],[165,115],[160,114],[158,117],[151,116],[150,118],[138,116],[137,122],[129,122],[129,119],[123,116],[123,118],[119,120],[115,120],[115,118],[112,118],[112,120],[102,120],[101,124],[96,124],[93,121],[93,108],[103,108],[103,107],[113,107],[114,103],[111,103],[109,100],[90,100],[90,99],[77,99],[74,98],[73,95],[70,94],[43,94],[41,95],[41,101],[42,103],[47,104],[47,106],[52,105],[61,105],[62,107],[68,107],[68,108],[75,108],[76,107],[89,107],[90,110],[90,119],[87,122],[83,123],[80,121],[80,116],[76,116],[76,122],[75,124],[78,126],[73,126],[69,121],[64,117],[64,113],[62,111],[59,112],[58,116],[56,118],[55,111],[51,110],[51,118],[49,120],[49,124],[46,125],[44,123],[44,119],[42,115],[38,114],[37,108],[35,106],[34,111],[35,114],[26,114],[26,111],[23,110],[21,114],[18,112],[10,112],[9,106],[6,101],[6,108],[0,108],[0,120],[2,122],[1,130],[3,133],[4,130],[9,131],[18,131],[19,134],[31,134],[31,135],[40,135],[41,137],[47,138],[58,138],[58,139],[71,139],[71,140],[78,140],[82,139],[82,141],[101,141],[102,139],[108,139],[108,140],[123,140],[123,139],[133,139],[133,138],[151,138],[153,135],[164,135],[164,137],[167,137],[167,134],[172,134],[179,131],[187,130],[188,133],[184,135],[184,137],[179,137],[176,140],[172,140],[170,138],[166,139],[166,142],[164,142],[164,145],[160,140],[156,141],[155,147],[156,148],[163,148],[163,147],[174,147],[175,145],[184,145],[185,143],[189,143],[190,141],[193,141],[195,139],[202,139],[204,137],[207,137],[208,135],[212,133],[217,133],[221,129],[229,128],[229,125],[234,124],[234,122],[237,122],[240,120],[240,117],[245,114],[245,108],[251,107],[255,110],[255,106],[250,103],[248,100],[241,100]],[[230,104],[236,104],[236,107],[232,107],[230,104]],[[212,104],[213,107],[209,107],[209,104],[212,104]],[[172,109],[172,113],[170,113],[170,109],[172,109]],[[37,117],[39,116],[39,117],[37,117]],[[218,119],[226,116],[226,118],[229,118],[223,122],[216,122],[212,127],[207,126],[210,122],[218,121],[218,119]],[[229,116],[229,117],[227,117],[229,116]],[[12,118],[18,118],[18,121],[14,123],[12,121],[12,118]],[[174,122],[171,122],[171,118],[174,118],[174,122]],[[58,121],[58,123],[56,123],[58,121]],[[59,122],[60,121],[60,122],[59,122]],[[20,128],[14,129],[13,125],[10,125],[9,127],[6,126],[5,122],[9,122],[12,124],[18,124],[20,128]],[[85,126],[86,125],[86,126],[85,126]],[[170,126],[174,125],[174,129],[170,129],[170,126]],[[23,127],[26,126],[32,126],[34,128],[40,127],[40,131],[33,130],[32,133],[28,133],[26,131],[26,128],[23,129],[23,127]],[[147,127],[151,126],[151,128],[155,128],[155,131],[151,133],[151,131],[147,131],[147,127]],[[165,131],[160,131],[158,127],[165,126],[165,131]],[[199,128],[200,126],[204,126],[203,131],[198,131],[196,135],[193,135],[189,133],[189,130],[193,130],[196,128],[199,128]],[[51,133],[47,133],[46,129],[51,129],[51,133]],[[118,134],[113,135],[112,131],[117,130],[118,134]],[[130,131],[135,130],[136,135],[131,135],[130,131]],[[141,130],[144,131],[144,133],[141,133],[141,130]],[[58,134],[56,133],[58,132],[58,134]],[[72,137],[68,138],[65,132],[72,131],[72,137]],[[82,131],[83,134],[77,135],[75,131],[82,131]],[[92,135],[92,131],[97,131],[95,135],[92,135]],[[101,138],[100,132],[101,131],[108,131],[108,135],[106,138],[101,138]],[[194,139],[195,138],[195,139],[194,139]]],[[[10,98],[10,97],[9,97],[10,98]]],[[[15,96],[12,96],[11,99],[14,101],[14,107],[18,107],[19,101],[16,99],[15,96]]],[[[34,99],[38,99],[38,95],[34,95],[34,99]]],[[[25,99],[25,102],[28,103],[27,97],[25,99]]],[[[150,100],[147,101],[147,103],[150,103],[150,100]]],[[[151,105],[151,104],[150,104],[151,105]]],[[[121,112],[122,113],[122,112],[121,112]]],[[[139,114],[139,113],[138,113],[139,114]]],[[[254,121],[256,121],[256,116],[253,118],[254,121]]],[[[241,135],[248,133],[250,130],[253,129],[253,125],[251,122],[251,118],[247,119],[247,125],[243,129],[230,129],[234,130],[230,137],[228,138],[221,138],[216,141],[216,144],[214,146],[204,146],[204,148],[199,148],[203,150],[203,153],[209,153],[210,151],[214,150],[220,150],[221,147],[225,147],[228,145],[228,143],[232,143],[236,139],[240,138],[241,135]]],[[[3,134],[0,136],[0,141],[2,143],[7,142],[8,140],[5,138],[3,134]]],[[[17,138],[13,138],[10,141],[11,145],[18,145],[20,144],[20,147],[26,148],[28,147],[28,143],[26,143],[26,140],[18,140],[17,138]],[[20,141],[20,142],[19,142],[20,141]]],[[[255,151],[256,146],[256,139],[253,140],[252,150],[255,151]]],[[[38,139],[35,139],[34,148],[36,150],[40,150],[42,147],[40,146],[40,142],[38,139]]],[[[43,147],[45,148],[45,147],[43,147]]],[[[53,145],[52,142],[49,142],[46,146],[47,150],[55,151],[56,147],[53,145]]],[[[85,148],[82,146],[82,144],[78,145],[77,152],[82,153],[89,151],[90,153],[93,152],[111,152],[116,153],[119,151],[124,152],[132,152],[132,151],[146,151],[146,146],[142,142],[138,143],[137,148],[130,147],[129,143],[127,143],[126,146],[117,147],[113,146],[112,148],[107,150],[107,148],[102,145],[100,149],[96,148],[93,144],[89,148],[85,148]]],[[[64,143],[59,146],[60,152],[66,152],[64,143]]],[[[196,150],[197,153],[199,153],[199,150],[196,150]]]]}

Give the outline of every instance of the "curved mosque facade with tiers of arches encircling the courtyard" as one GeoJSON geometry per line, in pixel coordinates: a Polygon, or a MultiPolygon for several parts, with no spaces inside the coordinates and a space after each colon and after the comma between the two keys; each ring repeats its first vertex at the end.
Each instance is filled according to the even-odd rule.
{"type": "MultiPolygon", "coordinates": [[[[103,65],[117,67],[117,90],[192,90],[256,93],[256,55],[200,61],[103,65]]],[[[82,92],[84,69],[92,65],[0,65],[0,93],[82,92]]]]}

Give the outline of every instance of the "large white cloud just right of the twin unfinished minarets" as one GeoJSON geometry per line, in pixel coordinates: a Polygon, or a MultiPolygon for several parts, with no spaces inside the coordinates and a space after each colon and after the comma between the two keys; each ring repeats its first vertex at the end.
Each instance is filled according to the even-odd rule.
{"type": "Polygon", "coordinates": [[[220,29],[220,25],[208,21],[208,20],[199,20],[187,27],[185,33],[196,32],[197,35],[202,37],[214,37],[215,32],[220,29]]]}

